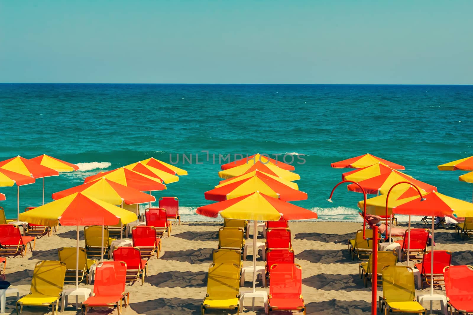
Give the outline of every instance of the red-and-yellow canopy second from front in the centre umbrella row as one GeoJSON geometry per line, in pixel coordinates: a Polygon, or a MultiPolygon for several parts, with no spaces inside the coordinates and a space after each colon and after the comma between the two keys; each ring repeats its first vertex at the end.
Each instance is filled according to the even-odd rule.
{"type": "Polygon", "coordinates": [[[239,196],[245,196],[259,191],[267,196],[283,201],[306,200],[305,192],[293,189],[274,179],[264,179],[257,176],[242,179],[204,193],[205,199],[223,201],[239,196]]]}

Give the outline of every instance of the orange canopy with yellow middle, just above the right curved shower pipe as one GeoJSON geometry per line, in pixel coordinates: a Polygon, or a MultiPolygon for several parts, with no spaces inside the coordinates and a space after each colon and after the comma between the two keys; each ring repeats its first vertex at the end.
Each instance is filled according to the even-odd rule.
{"type": "MultiPolygon", "coordinates": [[[[415,185],[427,192],[437,190],[437,187],[421,182],[420,180],[413,179],[412,177],[398,172],[397,170],[392,170],[389,173],[384,173],[370,179],[361,180],[358,183],[361,187],[363,187],[363,189],[365,189],[365,192],[367,194],[376,195],[378,193],[387,193],[389,191],[389,188],[393,187],[395,183],[401,181],[408,181],[412,183],[412,185],[415,185]]],[[[350,184],[347,187],[350,191],[356,191],[359,193],[362,192],[358,185],[350,184]]]]}

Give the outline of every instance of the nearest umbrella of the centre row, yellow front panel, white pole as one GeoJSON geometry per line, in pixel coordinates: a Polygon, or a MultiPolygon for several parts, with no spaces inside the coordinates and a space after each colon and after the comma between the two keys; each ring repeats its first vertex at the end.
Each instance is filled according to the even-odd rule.
{"type": "Polygon", "coordinates": [[[197,214],[217,218],[220,214],[225,219],[252,220],[253,227],[253,292],[256,291],[256,221],[316,219],[317,213],[294,204],[254,192],[246,196],[220,201],[215,204],[198,207],[197,214]]]}

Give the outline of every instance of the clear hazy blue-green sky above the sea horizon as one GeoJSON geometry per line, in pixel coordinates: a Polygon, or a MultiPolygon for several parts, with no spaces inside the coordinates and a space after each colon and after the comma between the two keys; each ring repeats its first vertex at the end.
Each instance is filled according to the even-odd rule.
{"type": "Polygon", "coordinates": [[[473,1],[0,0],[0,82],[473,84],[473,1]]]}

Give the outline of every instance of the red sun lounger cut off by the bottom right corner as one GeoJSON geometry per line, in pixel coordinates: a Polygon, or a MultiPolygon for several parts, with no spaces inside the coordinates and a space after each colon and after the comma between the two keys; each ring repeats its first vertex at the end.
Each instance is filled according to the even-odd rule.
{"type": "Polygon", "coordinates": [[[450,314],[453,310],[460,314],[473,313],[473,266],[447,266],[443,273],[450,314]]]}

